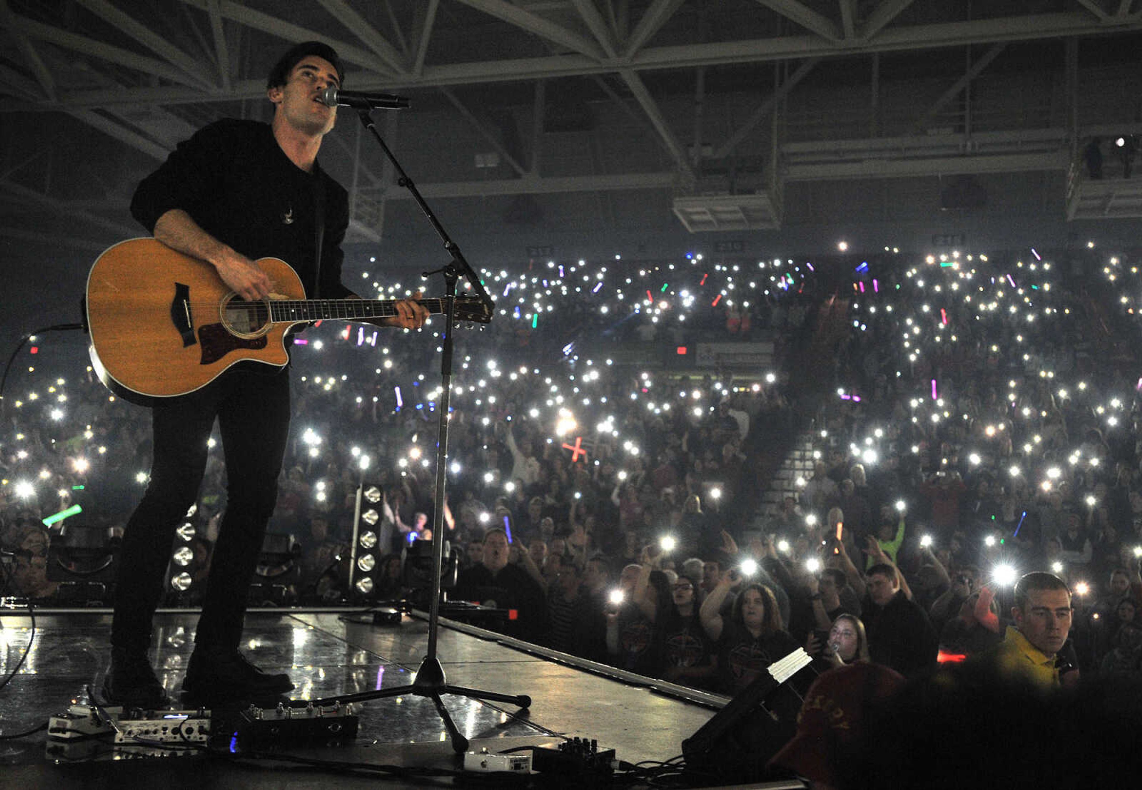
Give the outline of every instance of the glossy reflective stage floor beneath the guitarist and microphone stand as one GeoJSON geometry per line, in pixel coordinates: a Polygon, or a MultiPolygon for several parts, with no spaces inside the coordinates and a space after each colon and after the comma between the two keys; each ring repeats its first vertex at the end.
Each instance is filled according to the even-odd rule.
{"type": "MultiPolygon", "coordinates": [[[[400,626],[380,627],[346,622],[346,615],[351,614],[250,613],[243,650],[267,671],[288,671],[296,684],[289,694],[293,700],[410,684],[427,650],[427,622],[405,616],[400,626]]],[[[161,613],[156,619],[152,662],[175,700],[193,650],[196,616],[161,613]]],[[[27,644],[29,624],[26,616],[0,618],[0,678],[19,660],[27,644]]],[[[31,729],[49,716],[64,712],[72,700],[86,701],[88,684],[98,690],[108,656],[108,634],[110,615],[105,613],[39,614],[26,662],[9,686],[0,691],[0,734],[31,729]]],[[[437,655],[451,684],[528,694],[532,699],[530,710],[518,714],[509,704],[445,695],[445,707],[474,750],[488,747],[496,752],[579,736],[597,740],[600,748],[614,749],[618,759],[627,763],[668,760],[681,753],[682,740],[716,712],[711,707],[675,699],[645,685],[602,677],[449,627],[440,630],[437,655]]],[[[362,703],[359,715],[357,737],[349,745],[291,751],[377,765],[460,766],[431,699],[409,694],[375,700],[362,703]]],[[[57,763],[46,756],[49,745],[43,732],[0,741],[0,765],[6,766],[3,784],[32,790],[85,780],[126,781],[135,787],[169,780],[172,769],[192,769],[195,783],[208,782],[211,787],[280,787],[286,782],[291,788],[319,787],[330,781],[329,774],[304,768],[256,771],[201,755],[57,763]]],[[[343,775],[336,781],[353,785],[378,779],[343,775]]],[[[419,780],[386,783],[424,784],[419,780]]]]}

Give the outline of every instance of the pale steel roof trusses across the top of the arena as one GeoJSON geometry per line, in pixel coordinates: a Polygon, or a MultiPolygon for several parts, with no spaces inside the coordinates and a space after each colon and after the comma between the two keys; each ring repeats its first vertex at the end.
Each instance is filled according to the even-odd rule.
{"type": "MultiPolygon", "coordinates": [[[[915,0],[879,0],[870,7],[856,0],[812,5],[809,0],[741,0],[737,13],[748,13],[765,24],[733,40],[671,35],[670,31],[682,24],[682,14],[690,15],[686,24],[692,22],[697,3],[687,0],[317,0],[306,7],[306,14],[293,14],[293,6],[272,14],[264,10],[270,6],[262,0],[155,3],[170,16],[191,19],[193,34],[179,34],[170,24],[156,22],[154,13],[146,14],[144,7],[122,0],[69,1],[82,9],[85,19],[97,19],[99,24],[54,24],[31,13],[27,0],[0,0],[0,27],[14,45],[8,62],[0,61],[0,114],[64,112],[130,148],[162,159],[172,147],[172,127],[178,128],[164,108],[193,105],[195,112],[210,115],[211,105],[264,96],[260,75],[251,76],[240,67],[242,43],[248,48],[256,39],[280,48],[286,42],[316,38],[338,50],[354,88],[434,89],[515,176],[499,182],[421,185],[426,194],[455,196],[684,190],[700,177],[703,159],[721,160],[739,153],[750,134],[826,58],[990,45],[962,74],[954,75],[948,90],[917,118],[915,132],[967,90],[1008,42],[1142,31],[1142,9],[1135,0],[1057,0],[1049,11],[1016,10],[1012,16],[952,21],[924,16],[927,3],[915,0]],[[750,8],[754,10],[745,10],[750,8]],[[493,26],[499,25],[499,35],[508,34],[504,31],[515,37],[522,33],[540,47],[524,54],[474,59],[439,57],[441,48],[434,49],[434,42],[456,35],[459,24],[493,32],[493,26]],[[91,79],[69,79],[67,62],[77,58],[87,64],[91,79]],[[656,95],[654,82],[649,80],[661,72],[765,62],[788,63],[783,81],[707,154],[702,154],[698,139],[702,124],[695,121],[693,140],[681,139],[677,124],[664,111],[665,97],[656,95]],[[594,80],[612,103],[636,113],[667,152],[669,170],[542,176],[536,143],[542,131],[545,86],[568,76],[594,80]],[[465,102],[458,91],[498,82],[534,84],[530,161],[509,150],[482,108],[465,102]]],[[[707,13],[716,7],[703,6],[707,13]]],[[[73,16],[79,15],[77,11],[73,16]]],[[[702,90],[701,78],[683,76],[682,81],[699,86],[695,95],[702,90]]],[[[361,188],[376,193],[378,183],[387,183],[391,177],[389,169],[378,177],[360,164],[360,145],[353,148],[354,167],[361,168],[361,188]]],[[[354,176],[353,180],[359,179],[354,176]]],[[[10,185],[0,184],[0,188],[10,185]]],[[[387,192],[384,186],[379,190],[384,201],[387,192]]],[[[387,196],[399,195],[393,192],[387,196]]],[[[50,207],[50,199],[38,202],[50,207]]],[[[94,216],[97,220],[98,216],[94,216]]]]}

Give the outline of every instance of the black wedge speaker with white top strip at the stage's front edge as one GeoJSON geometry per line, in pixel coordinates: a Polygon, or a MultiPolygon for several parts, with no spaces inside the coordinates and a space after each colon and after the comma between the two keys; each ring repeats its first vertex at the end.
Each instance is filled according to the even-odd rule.
{"type": "MultiPolygon", "coordinates": [[[[797,732],[801,695],[787,683],[812,661],[797,648],[762,672],[682,742],[686,775],[698,785],[758,782],[765,764],[797,732]]],[[[809,684],[805,684],[806,687],[809,684]]]]}

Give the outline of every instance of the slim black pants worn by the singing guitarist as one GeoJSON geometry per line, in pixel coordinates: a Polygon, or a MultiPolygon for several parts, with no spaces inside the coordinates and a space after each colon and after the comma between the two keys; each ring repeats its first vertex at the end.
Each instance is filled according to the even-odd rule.
{"type": "Polygon", "coordinates": [[[238,646],[289,435],[289,372],[267,370],[231,369],[201,390],[152,411],[154,466],[123,532],[111,626],[114,647],[144,651],[151,643],[175,530],[198,499],[216,418],[226,461],[226,514],[195,643],[238,646]]]}

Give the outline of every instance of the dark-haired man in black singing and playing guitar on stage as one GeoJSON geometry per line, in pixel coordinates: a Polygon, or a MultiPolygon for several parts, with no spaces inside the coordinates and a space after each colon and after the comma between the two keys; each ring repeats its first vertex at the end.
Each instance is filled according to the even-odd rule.
{"type": "MultiPolygon", "coordinates": [[[[341,78],[331,47],[317,41],[292,47],[267,81],[273,121],[224,120],[201,129],[139,184],[131,215],[156,240],[214,266],[248,301],[265,299],[275,288],[255,263],[258,257],[291,261],[311,292],[324,299],[355,298],[340,283],[348,196],[316,161],[336,121],[336,107],[320,97],[329,86],[339,88],[341,78]]],[[[418,292],[396,301],[393,315],[370,323],[420,328],[428,311],[419,298],[418,292]]],[[[108,704],[154,709],[168,702],[147,659],[152,620],[175,529],[198,497],[216,419],[227,505],[183,684],[184,702],[214,707],[293,687],[288,675],[263,672],[238,650],[247,591],[276,500],[289,418],[287,368],[235,365],[154,406],[151,481],[127,523],[120,555],[111,668],[103,685],[108,704]]]]}

